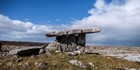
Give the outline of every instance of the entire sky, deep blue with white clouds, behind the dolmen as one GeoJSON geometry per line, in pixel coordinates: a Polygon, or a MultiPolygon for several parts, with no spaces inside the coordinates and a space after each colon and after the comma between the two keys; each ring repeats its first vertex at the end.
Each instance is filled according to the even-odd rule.
{"type": "Polygon", "coordinates": [[[140,0],[0,0],[0,40],[52,42],[50,31],[101,28],[87,45],[140,46],[140,0]]]}

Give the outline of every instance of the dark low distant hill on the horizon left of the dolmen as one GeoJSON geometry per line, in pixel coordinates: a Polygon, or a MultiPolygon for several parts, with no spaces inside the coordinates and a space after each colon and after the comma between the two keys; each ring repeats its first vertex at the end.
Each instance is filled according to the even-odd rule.
{"type": "Polygon", "coordinates": [[[13,46],[42,46],[49,44],[41,42],[24,42],[24,41],[0,41],[0,43],[2,45],[13,45],[13,46]]]}

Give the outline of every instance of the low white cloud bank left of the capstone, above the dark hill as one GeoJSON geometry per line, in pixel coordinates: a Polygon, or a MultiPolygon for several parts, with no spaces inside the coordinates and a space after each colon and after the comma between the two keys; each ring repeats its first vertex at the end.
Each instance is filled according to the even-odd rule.
{"type": "Polygon", "coordinates": [[[45,33],[52,30],[51,25],[35,25],[0,14],[0,40],[46,41],[45,33]]]}

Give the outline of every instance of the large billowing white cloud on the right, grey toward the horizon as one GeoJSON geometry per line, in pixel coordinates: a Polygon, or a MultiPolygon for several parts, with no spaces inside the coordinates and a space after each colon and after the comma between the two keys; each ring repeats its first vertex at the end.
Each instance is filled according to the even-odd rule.
{"type": "Polygon", "coordinates": [[[138,45],[140,42],[139,2],[139,0],[127,0],[121,4],[115,0],[107,4],[104,0],[97,0],[94,4],[95,8],[88,11],[90,16],[73,21],[72,28],[100,27],[102,29],[100,33],[88,35],[88,42],[93,44],[100,42],[101,45],[104,43],[123,45],[122,41],[126,41],[125,43],[133,42],[131,45],[138,45]]]}

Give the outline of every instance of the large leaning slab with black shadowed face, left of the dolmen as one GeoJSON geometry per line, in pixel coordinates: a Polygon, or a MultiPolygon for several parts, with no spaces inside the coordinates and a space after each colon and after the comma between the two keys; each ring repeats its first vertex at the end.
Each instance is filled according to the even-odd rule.
{"type": "Polygon", "coordinates": [[[10,55],[30,56],[39,54],[41,47],[24,47],[20,49],[10,50],[10,55]]]}

